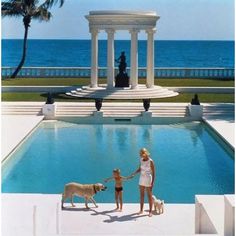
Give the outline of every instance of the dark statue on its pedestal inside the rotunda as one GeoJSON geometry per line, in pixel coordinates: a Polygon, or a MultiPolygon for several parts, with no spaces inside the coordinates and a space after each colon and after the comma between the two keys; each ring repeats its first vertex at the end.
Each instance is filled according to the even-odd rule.
{"type": "Polygon", "coordinates": [[[115,60],[119,63],[119,74],[115,78],[115,87],[129,87],[129,76],[126,73],[126,57],[125,52],[121,52],[118,59],[115,60]]]}

